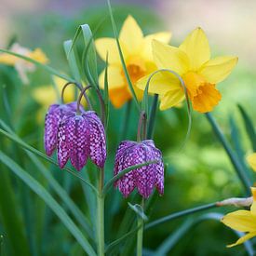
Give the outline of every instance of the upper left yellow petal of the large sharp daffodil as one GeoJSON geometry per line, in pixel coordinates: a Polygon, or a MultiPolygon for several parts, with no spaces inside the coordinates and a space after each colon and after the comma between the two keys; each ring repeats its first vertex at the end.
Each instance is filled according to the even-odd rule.
{"type": "Polygon", "coordinates": [[[177,47],[170,47],[156,40],[152,41],[153,58],[158,69],[169,69],[182,75],[189,69],[187,55],[177,47]]]}

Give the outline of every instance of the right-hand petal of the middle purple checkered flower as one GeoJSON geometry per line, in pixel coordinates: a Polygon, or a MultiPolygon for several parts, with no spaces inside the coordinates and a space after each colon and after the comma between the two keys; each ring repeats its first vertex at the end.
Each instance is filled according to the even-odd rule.
{"type": "Polygon", "coordinates": [[[83,117],[88,121],[89,156],[99,168],[103,168],[107,154],[105,130],[101,119],[94,111],[86,112],[83,117]]]}

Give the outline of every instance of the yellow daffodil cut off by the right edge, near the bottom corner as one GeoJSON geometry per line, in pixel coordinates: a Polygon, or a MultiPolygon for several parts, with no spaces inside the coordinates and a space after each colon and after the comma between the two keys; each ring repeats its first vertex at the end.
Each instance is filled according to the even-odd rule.
{"type": "Polygon", "coordinates": [[[229,245],[233,247],[244,243],[253,236],[256,236],[256,188],[251,188],[253,195],[253,203],[250,210],[239,209],[234,212],[228,213],[222,218],[222,222],[240,232],[247,232],[245,236],[240,237],[235,244],[229,245]]]}

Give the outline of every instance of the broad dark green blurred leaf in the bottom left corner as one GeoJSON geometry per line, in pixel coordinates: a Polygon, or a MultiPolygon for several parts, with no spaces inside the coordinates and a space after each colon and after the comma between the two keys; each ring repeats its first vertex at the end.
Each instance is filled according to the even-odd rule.
{"type": "Polygon", "coordinates": [[[3,165],[0,179],[0,211],[2,223],[7,233],[7,239],[13,255],[29,255],[28,240],[25,236],[24,222],[21,219],[20,209],[15,192],[12,188],[9,173],[3,165]]]}

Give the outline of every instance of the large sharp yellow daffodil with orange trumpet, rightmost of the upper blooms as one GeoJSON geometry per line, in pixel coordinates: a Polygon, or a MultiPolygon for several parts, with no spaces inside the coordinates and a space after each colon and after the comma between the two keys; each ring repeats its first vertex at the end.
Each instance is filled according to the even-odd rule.
{"type": "MultiPolygon", "coordinates": [[[[153,40],[153,56],[158,69],[180,74],[192,101],[193,108],[207,113],[221,100],[216,84],[222,82],[235,67],[237,58],[217,57],[210,60],[209,42],[201,28],[195,29],[180,47],[171,47],[153,40]]],[[[144,89],[149,76],[141,78],[137,87],[144,89]]],[[[184,99],[184,91],[177,77],[168,72],[155,74],[149,92],[160,95],[160,109],[166,110],[184,99]]]]}

